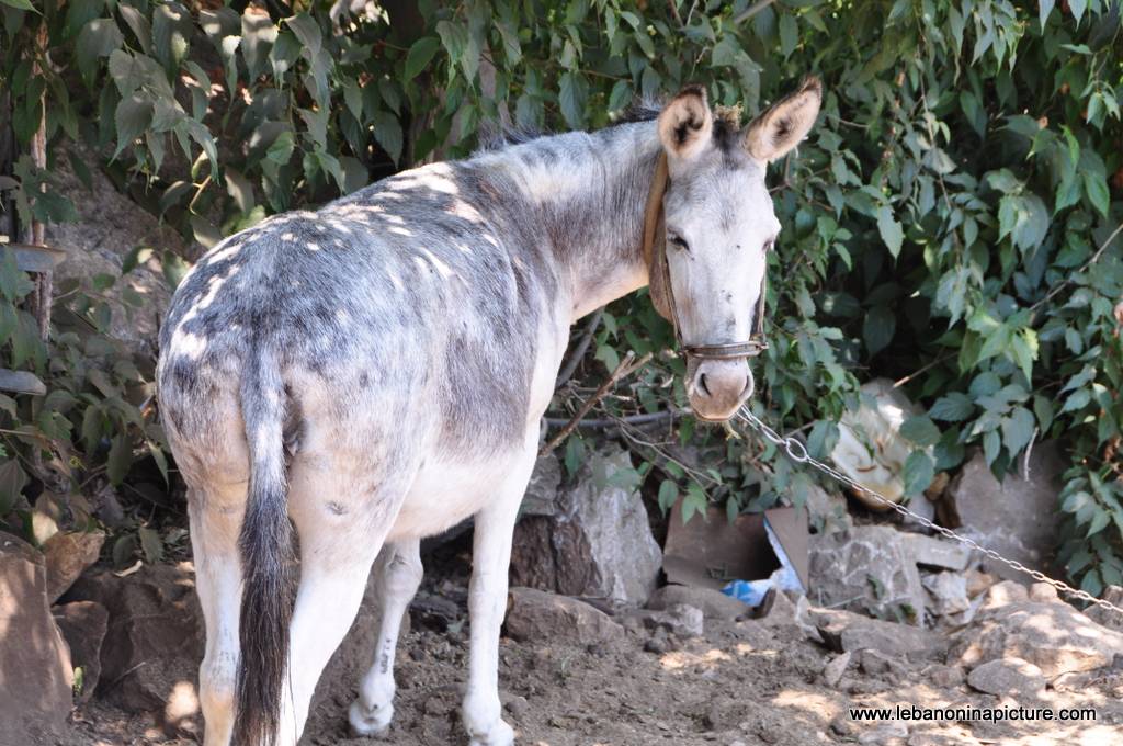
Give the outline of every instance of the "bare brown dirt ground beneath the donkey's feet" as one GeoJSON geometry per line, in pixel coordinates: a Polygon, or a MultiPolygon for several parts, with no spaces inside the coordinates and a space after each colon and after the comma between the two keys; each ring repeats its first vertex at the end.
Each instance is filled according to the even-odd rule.
{"type": "MultiPolygon", "coordinates": [[[[346,710],[368,663],[373,629],[353,629],[321,680],[303,746],[460,746],[467,672],[466,564],[427,579],[398,658],[395,717],[382,738],[353,738],[346,710]]],[[[446,557],[446,560],[449,560],[446,557]]],[[[1123,744],[1123,656],[1078,691],[1001,699],[971,690],[962,670],[928,659],[855,655],[837,685],[823,668],[837,654],[795,625],[706,621],[703,637],[677,639],[632,627],[626,638],[588,645],[554,640],[500,645],[504,718],[527,746],[809,746],[1123,744]],[[1093,708],[1090,722],[855,722],[850,707],[1093,708]]],[[[103,701],[74,713],[66,746],[194,744],[199,724],[177,729],[128,716],[103,701]],[[173,731],[173,733],[170,733],[173,731]]]]}

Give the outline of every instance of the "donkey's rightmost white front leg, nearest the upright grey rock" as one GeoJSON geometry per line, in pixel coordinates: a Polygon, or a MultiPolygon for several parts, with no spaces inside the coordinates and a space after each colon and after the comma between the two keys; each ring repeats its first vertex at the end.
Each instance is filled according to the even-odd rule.
{"type": "Polygon", "coordinates": [[[472,737],[471,746],[514,743],[514,731],[500,717],[499,631],[506,612],[511,535],[535,466],[537,443],[536,427],[527,434],[524,453],[496,491],[494,501],[476,513],[468,588],[472,651],[463,711],[464,726],[472,737]]]}

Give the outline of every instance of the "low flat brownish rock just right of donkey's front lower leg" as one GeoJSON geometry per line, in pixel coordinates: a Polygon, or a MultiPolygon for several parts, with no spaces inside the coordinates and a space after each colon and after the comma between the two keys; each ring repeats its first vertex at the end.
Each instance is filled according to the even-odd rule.
{"type": "Polygon", "coordinates": [[[603,611],[533,588],[511,589],[505,627],[519,642],[554,639],[584,645],[624,636],[624,628],[603,611]]]}

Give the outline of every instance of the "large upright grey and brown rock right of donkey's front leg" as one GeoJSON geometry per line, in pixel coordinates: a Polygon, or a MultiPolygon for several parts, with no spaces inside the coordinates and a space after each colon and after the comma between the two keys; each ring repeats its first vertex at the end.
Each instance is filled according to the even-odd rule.
{"type": "Polygon", "coordinates": [[[612,485],[614,474],[630,468],[619,447],[594,453],[576,485],[558,493],[555,515],[519,521],[511,584],[643,604],[655,591],[663,554],[639,493],[612,485]]]}

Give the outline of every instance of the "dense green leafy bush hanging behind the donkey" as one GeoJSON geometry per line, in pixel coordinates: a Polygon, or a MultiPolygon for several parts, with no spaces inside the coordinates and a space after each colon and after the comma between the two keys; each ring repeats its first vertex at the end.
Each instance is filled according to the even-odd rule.
{"type": "MultiPolygon", "coordinates": [[[[820,125],[774,176],[784,233],[756,406],[777,429],[810,428],[822,456],[858,379],[904,381],[928,410],[910,426],[912,493],[970,447],[1002,475],[1060,438],[1066,568],[1093,593],[1123,580],[1119,2],[472,0],[358,16],[302,2],[283,19],[244,2],[0,4],[6,35],[22,40],[4,53],[7,81],[47,91],[52,137],[103,148],[203,245],[466,154],[485,122],[599,127],[687,81],[751,113],[821,75],[820,125]],[[40,24],[53,66],[31,75],[19,49],[40,24]]],[[[16,104],[26,142],[38,104],[16,104]]],[[[613,304],[555,416],[604,375],[596,361],[611,370],[627,349],[670,342],[642,299],[613,304]]],[[[669,374],[682,366],[659,354],[602,413],[679,407],[669,374]]],[[[690,418],[674,433],[725,457],[692,461],[626,428],[664,507],[683,492],[692,511],[802,500],[807,475],[770,447],[695,433],[690,418]]],[[[570,466],[582,448],[567,445],[570,466]]]]}

